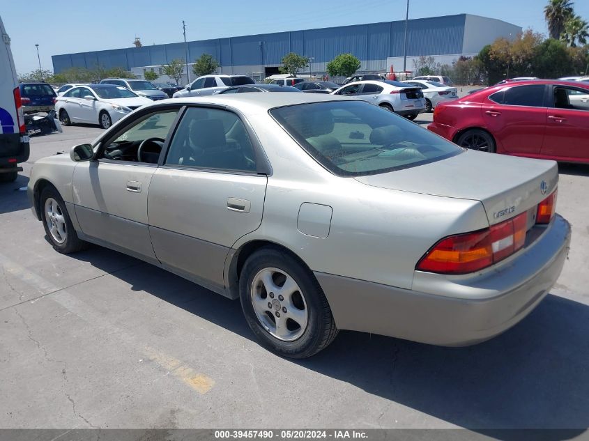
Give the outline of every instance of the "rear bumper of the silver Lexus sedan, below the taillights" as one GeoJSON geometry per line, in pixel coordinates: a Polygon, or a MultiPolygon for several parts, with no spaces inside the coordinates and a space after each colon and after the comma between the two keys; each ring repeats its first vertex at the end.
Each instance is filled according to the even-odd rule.
{"type": "Polygon", "coordinates": [[[451,280],[424,273],[430,286],[439,287],[439,294],[320,272],[315,275],[339,329],[440,346],[468,346],[508,330],[540,303],[563,269],[570,235],[569,223],[557,215],[525,252],[483,276],[451,280]],[[436,279],[441,283],[435,284],[436,279]],[[466,297],[468,293],[476,298],[466,297]]]}

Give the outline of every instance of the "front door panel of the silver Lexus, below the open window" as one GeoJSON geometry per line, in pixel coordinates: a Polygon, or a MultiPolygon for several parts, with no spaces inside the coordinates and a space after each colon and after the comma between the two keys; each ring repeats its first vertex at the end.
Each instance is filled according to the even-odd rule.
{"type": "Polygon", "coordinates": [[[82,233],[155,261],[147,226],[147,195],[154,171],[147,165],[105,160],[77,164],[73,201],[82,233]]]}

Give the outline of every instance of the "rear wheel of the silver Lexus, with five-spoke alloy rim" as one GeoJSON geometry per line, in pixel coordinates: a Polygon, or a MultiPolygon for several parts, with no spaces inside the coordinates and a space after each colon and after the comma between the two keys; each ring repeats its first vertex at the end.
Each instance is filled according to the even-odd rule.
{"type": "Polygon", "coordinates": [[[247,258],[239,295],[250,329],[262,346],[278,355],[310,357],[337,335],[319,282],[282,249],[264,247],[247,258]]]}

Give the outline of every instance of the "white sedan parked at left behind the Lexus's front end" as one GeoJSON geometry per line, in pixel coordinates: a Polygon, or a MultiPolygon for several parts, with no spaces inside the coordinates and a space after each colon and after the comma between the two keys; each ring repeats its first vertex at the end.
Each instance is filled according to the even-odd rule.
{"type": "Polygon", "coordinates": [[[57,97],[55,111],[63,125],[89,123],[107,129],[137,107],[152,102],[122,86],[89,84],[57,97]]]}

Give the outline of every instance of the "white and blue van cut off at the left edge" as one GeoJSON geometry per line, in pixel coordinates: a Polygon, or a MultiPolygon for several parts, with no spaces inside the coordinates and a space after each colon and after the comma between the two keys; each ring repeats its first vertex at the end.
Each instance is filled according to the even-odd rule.
{"type": "Polygon", "coordinates": [[[29,159],[29,137],[24,128],[20,88],[10,37],[0,17],[0,183],[13,182],[29,159]]]}

